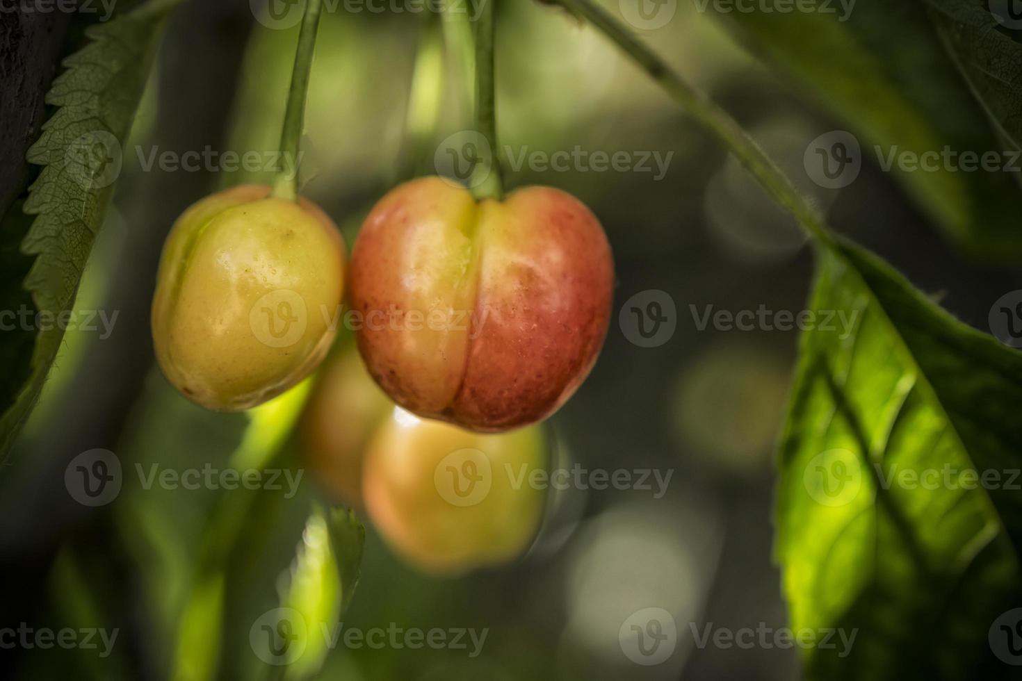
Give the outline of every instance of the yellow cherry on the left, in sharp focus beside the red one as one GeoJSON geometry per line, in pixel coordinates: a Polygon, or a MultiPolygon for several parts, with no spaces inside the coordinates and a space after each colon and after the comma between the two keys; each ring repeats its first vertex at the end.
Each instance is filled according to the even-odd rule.
{"type": "Polygon", "coordinates": [[[186,397],[238,411],[308,376],[335,335],[344,246],[311,201],[245,185],[194,203],[164,245],[152,340],[186,397]]]}

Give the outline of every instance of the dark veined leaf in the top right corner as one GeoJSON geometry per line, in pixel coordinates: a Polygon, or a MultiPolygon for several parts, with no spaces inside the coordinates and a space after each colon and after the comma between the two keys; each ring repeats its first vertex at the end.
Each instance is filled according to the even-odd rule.
{"type": "Polygon", "coordinates": [[[1015,0],[926,0],[930,16],[987,114],[1016,149],[1022,148],[1022,44],[1010,30],[1022,20],[1008,9],[1015,0]],[[996,7],[998,17],[987,8],[996,7]],[[1007,22],[1007,28],[1002,23],[1007,22]]]}

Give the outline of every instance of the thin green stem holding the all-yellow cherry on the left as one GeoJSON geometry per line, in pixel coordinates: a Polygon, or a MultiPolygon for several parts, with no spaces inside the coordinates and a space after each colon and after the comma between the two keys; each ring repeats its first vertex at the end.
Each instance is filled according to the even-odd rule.
{"type": "Polygon", "coordinates": [[[298,198],[298,141],[306,118],[306,94],[309,92],[309,71],[316,47],[316,29],[319,27],[320,0],[306,0],[306,13],[298,32],[298,47],[294,52],[294,69],[291,88],[287,93],[284,127],[280,133],[280,152],[285,161],[273,181],[273,196],[296,201],[298,198]],[[291,167],[288,167],[290,165],[291,167]]]}

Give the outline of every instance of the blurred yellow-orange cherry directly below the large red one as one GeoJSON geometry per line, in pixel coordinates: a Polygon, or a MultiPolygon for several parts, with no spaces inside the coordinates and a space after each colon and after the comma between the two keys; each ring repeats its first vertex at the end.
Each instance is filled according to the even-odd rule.
{"type": "Polygon", "coordinates": [[[546,490],[542,426],[482,434],[394,408],[366,451],[366,510],[384,540],[423,572],[499,566],[531,545],[546,490]]]}

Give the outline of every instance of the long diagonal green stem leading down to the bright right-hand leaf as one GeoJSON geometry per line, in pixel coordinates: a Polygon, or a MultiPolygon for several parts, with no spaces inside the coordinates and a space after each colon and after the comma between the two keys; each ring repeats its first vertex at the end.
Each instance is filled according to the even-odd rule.
{"type": "Polygon", "coordinates": [[[593,0],[557,0],[565,9],[577,14],[608,39],[653,79],[667,94],[685,108],[700,126],[712,134],[752,174],[756,181],[818,243],[835,244],[834,235],[823,215],[802,196],[777,163],[749,137],[727,111],[714,104],[703,92],[693,88],[672,71],[660,57],[635,39],[606,10],[593,0]]]}

